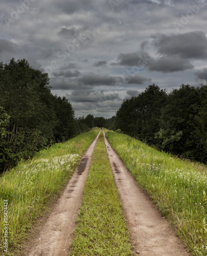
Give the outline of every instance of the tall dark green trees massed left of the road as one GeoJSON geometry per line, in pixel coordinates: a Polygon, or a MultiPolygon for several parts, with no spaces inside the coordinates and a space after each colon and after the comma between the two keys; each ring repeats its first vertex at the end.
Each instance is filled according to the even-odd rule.
{"type": "Polygon", "coordinates": [[[72,105],[51,94],[46,73],[25,59],[0,63],[0,173],[75,134],[72,105]]]}

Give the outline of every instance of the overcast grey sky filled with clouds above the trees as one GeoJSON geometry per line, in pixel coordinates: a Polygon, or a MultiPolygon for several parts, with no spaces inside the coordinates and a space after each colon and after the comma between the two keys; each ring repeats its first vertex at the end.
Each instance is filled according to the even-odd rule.
{"type": "Polygon", "coordinates": [[[152,83],[207,80],[205,0],[0,0],[0,62],[47,72],[76,117],[115,115],[152,83]]]}

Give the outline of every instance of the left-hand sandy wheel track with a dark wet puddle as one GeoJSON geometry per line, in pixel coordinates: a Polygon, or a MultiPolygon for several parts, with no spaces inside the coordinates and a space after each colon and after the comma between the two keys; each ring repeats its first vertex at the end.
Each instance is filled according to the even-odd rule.
{"type": "Polygon", "coordinates": [[[83,156],[80,165],[76,168],[46,223],[37,234],[37,237],[31,241],[33,246],[28,251],[29,256],[68,255],[75,228],[75,219],[79,212],[83,188],[97,138],[98,136],[83,156]]]}

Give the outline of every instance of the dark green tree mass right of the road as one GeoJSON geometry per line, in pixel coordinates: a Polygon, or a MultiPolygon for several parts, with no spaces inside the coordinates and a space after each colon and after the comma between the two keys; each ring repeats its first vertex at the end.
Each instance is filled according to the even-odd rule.
{"type": "Polygon", "coordinates": [[[207,163],[207,86],[170,93],[151,84],[122,102],[116,129],[179,157],[207,163]]]}

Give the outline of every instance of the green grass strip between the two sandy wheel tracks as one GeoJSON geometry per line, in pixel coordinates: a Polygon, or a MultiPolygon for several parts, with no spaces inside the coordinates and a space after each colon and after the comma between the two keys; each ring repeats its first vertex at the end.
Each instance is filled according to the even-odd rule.
{"type": "Polygon", "coordinates": [[[70,255],[133,255],[101,132],[93,153],[70,255]]]}

